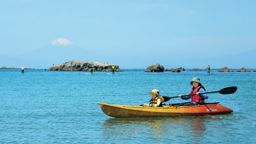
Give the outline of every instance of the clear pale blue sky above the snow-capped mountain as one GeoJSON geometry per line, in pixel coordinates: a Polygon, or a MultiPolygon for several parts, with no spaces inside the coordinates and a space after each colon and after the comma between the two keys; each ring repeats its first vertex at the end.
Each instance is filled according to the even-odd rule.
{"type": "Polygon", "coordinates": [[[110,55],[234,55],[256,49],[255,5],[234,0],[0,1],[0,54],[15,57],[66,38],[110,55]]]}

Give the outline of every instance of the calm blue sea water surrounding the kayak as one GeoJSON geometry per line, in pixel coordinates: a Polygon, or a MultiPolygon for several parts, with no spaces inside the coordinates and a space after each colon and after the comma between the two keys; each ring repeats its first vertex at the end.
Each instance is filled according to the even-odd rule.
{"type": "MultiPolygon", "coordinates": [[[[213,70],[119,75],[44,69],[0,69],[0,143],[253,143],[256,140],[256,73],[213,70]],[[209,94],[232,114],[201,117],[112,118],[97,102],[148,103],[149,91],[187,94],[199,77],[206,91],[237,86],[234,94],[209,94]]],[[[189,101],[189,100],[187,100],[189,101]]],[[[186,102],[180,98],[171,103],[186,102]]]]}

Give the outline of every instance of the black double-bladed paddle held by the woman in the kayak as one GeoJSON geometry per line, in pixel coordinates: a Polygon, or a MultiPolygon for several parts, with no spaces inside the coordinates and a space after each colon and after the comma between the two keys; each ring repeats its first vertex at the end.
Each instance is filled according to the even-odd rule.
{"type": "MultiPolygon", "coordinates": [[[[200,93],[200,94],[206,94],[206,93],[220,93],[220,94],[231,94],[231,93],[235,93],[237,90],[237,87],[236,86],[231,86],[231,87],[226,87],[224,89],[221,89],[219,91],[215,91],[215,92],[203,92],[203,93],[200,93]]],[[[182,95],[181,97],[185,97],[185,96],[189,96],[189,95],[196,95],[196,94],[188,94],[188,95],[182,95]]],[[[165,97],[165,96],[162,96],[164,98],[164,102],[165,101],[169,101],[170,99],[173,99],[173,98],[179,98],[179,97],[165,97]]]]}

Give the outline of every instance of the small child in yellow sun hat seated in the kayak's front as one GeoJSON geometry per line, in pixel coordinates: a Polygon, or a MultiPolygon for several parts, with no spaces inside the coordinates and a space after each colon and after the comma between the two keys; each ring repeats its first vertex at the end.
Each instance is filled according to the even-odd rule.
{"type": "Polygon", "coordinates": [[[164,98],[159,94],[159,91],[154,89],[148,93],[152,96],[150,103],[144,103],[142,107],[162,107],[162,102],[164,102],[164,98]]]}

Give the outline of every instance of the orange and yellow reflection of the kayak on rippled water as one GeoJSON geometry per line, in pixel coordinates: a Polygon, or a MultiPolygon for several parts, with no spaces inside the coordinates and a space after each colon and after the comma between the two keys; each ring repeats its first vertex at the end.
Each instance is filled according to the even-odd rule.
{"type": "MultiPolygon", "coordinates": [[[[201,142],[205,131],[218,125],[219,117],[109,118],[101,123],[105,137],[152,138],[181,142],[201,142]],[[213,125],[212,125],[213,124],[213,125]],[[211,125],[211,126],[209,126],[211,125]]],[[[217,129],[218,130],[218,129],[217,129]]],[[[219,132],[218,132],[219,133],[219,132]]]]}

